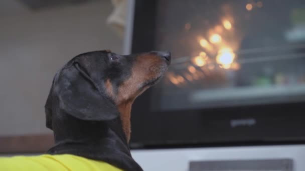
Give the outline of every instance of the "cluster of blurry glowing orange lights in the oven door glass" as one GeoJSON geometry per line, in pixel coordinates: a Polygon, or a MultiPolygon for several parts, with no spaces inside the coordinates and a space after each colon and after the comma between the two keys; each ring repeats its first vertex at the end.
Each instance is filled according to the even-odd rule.
{"type": "MultiPolygon", "coordinates": [[[[262,2],[249,2],[245,7],[247,10],[252,10],[255,7],[262,7],[262,2]]],[[[191,27],[189,22],[184,25],[186,31],[191,27]]],[[[201,46],[201,49],[196,51],[201,50],[201,52],[177,59],[177,67],[167,74],[168,80],[180,87],[187,82],[209,80],[219,75],[222,77],[226,72],[224,69],[240,69],[235,51],[238,50],[238,41],[242,35],[236,34],[237,31],[238,27],[234,27],[232,16],[221,17],[217,24],[207,29],[203,35],[200,33],[201,35],[196,37],[198,45],[201,46]]]]}

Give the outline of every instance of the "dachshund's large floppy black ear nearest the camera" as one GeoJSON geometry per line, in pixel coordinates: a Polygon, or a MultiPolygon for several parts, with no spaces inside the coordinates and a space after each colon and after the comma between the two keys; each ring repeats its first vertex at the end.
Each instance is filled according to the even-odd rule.
{"type": "Polygon", "coordinates": [[[110,120],[118,117],[116,105],[89,76],[86,69],[88,65],[82,64],[84,66],[74,61],[57,74],[53,93],[57,96],[59,108],[82,120],[110,120]]]}

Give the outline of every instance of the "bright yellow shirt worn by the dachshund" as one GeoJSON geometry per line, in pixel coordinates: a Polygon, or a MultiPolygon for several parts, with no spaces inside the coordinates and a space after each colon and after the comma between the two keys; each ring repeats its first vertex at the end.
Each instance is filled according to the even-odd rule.
{"type": "Polygon", "coordinates": [[[121,169],[103,161],[87,159],[71,154],[38,156],[12,156],[0,157],[0,170],[25,170],[25,171],[47,171],[47,170],[105,170],[122,171],[121,169]]]}

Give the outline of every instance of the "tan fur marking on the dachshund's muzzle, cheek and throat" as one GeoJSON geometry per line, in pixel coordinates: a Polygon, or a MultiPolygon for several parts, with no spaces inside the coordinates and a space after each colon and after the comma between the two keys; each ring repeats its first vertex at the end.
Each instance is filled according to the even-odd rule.
{"type": "Polygon", "coordinates": [[[113,87],[110,80],[107,79],[105,82],[107,93],[115,101],[120,112],[122,128],[127,141],[129,141],[131,133],[131,105],[134,99],[148,88],[147,86],[140,89],[142,83],[156,79],[160,76],[160,73],[156,72],[160,70],[158,69],[158,65],[160,64],[162,64],[162,59],[155,55],[146,54],[137,56],[137,59],[132,66],[130,77],[119,86],[117,94],[113,94],[113,87]]]}

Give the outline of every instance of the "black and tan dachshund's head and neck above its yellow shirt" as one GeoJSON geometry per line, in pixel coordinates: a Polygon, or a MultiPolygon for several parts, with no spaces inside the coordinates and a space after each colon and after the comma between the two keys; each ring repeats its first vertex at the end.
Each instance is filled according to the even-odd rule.
{"type": "Polygon", "coordinates": [[[131,105],[161,79],[170,61],[171,54],[161,51],[119,55],[102,50],[71,59],[56,73],[45,105],[46,124],[55,137],[48,153],[142,170],[128,147],[131,105]]]}

